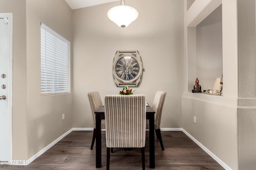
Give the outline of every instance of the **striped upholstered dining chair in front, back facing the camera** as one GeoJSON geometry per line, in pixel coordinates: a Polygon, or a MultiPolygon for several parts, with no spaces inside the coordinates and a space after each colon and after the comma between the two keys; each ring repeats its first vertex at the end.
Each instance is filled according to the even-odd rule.
{"type": "Polygon", "coordinates": [[[145,95],[107,95],[104,98],[106,120],[107,170],[111,148],[141,148],[145,170],[145,95]]]}

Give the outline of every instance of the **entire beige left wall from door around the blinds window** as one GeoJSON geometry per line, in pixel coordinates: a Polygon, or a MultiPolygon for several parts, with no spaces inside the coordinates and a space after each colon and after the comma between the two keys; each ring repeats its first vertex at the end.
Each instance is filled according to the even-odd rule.
{"type": "Polygon", "coordinates": [[[40,96],[40,23],[72,44],[72,10],[64,0],[0,4],[1,13],[13,14],[12,158],[28,160],[72,128],[72,95],[40,96]]]}

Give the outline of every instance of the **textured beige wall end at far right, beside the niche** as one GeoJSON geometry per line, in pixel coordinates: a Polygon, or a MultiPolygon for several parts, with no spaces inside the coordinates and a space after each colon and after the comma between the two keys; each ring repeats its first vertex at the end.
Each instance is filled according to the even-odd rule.
{"type": "Polygon", "coordinates": [[[256,20],[255,1],[238,0],[238,147],[239,169],[256,167],[256,20]]]}

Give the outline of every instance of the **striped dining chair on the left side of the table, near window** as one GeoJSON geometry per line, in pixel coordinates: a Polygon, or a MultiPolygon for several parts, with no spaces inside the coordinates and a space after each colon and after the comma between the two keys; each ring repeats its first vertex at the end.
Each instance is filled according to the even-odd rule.
{"type": "MultiPolygon", "coordinates": [[[[98,110],[100,107],[103,106],[101,98],[100,98],[100,93],[99,92],[88,92],[88,98],[90,101],[90,106],[92,110],[92,121],[93,121],[93,136],[92,136],[92,145],[91,145],[91,150],[93,148],[95,138],[96,138],[96,122],[95,122],[95,114],[94,112],[98,110]]],[[[101,121],[101,129],[105,129],[105,120],[102,119],[101,121]]]]}

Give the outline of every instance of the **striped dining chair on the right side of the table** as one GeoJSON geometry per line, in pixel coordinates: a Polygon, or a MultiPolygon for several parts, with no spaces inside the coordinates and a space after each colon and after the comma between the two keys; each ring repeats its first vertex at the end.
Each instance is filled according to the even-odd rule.
{"type": "MultiPolygon", "coordinates": [[[[155,132],[156,137],[160,142],[162,150],[164,150],[164,145],[162,142],[162,136],[160,131],[160,124],[161,124],[161,117],[162,117],[162,108],[164,105],[164,99],[166,96],[166,92],[164,91],[157,91],[153,100],[152,109],[154,109],[155,113],[155,132]]],[[[146,120],[146,129],[149,129],[149,120],[146,120]]]]}

